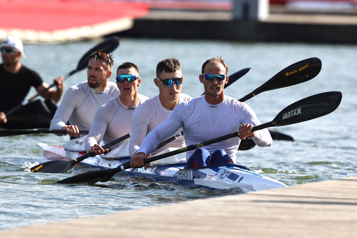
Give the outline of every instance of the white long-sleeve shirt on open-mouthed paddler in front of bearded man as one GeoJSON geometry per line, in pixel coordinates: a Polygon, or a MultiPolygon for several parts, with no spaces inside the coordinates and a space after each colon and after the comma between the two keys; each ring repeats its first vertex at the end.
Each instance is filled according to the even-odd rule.
{"type": "MultiPolygon", "coordinates": [[[[138,94],[138,96],[138,102],[132,107],[125,106],[120,101],[119,96],[99,107],[85,142],[86,151],[94,144],[99,145],[102,140],[104,144],[107,144],[131,132],[131,117],[134,109],[149,99],[141,94],[138,94]]],[[[109,149],[115,149],[127,140],[130,140],[130,138],[111,146],[109,149]]]]}

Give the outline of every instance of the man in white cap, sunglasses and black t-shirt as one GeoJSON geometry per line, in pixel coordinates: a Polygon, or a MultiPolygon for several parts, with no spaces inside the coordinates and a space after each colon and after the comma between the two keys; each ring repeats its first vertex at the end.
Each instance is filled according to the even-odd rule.
{"type": "MultiPolygon", "coordinates": [[[[19,105],[29,93],[31,86],[41,92],[49,87],[37,72],[20,63],[20,57],[25,58],[22,41],[14,36],[7,37],[0,43],[2,64],[0,64],[0,112],[7,112],[19,105]],[[5,103],[6,102],[6,103],[5,103]]],[[[55,88],[49,88],[41,96],[58,102],[63,93],[63,77],[57,77],[55,88]]],[[[49,104],[46,102],[46,104],[49,104]]],[[[53,105],[55,106],[55,105],[53,105]]],[[[56,106],[55,106],[56,107],[56,106]]],[[[10,119],[8,119],[8,123],[10,119]]]]}

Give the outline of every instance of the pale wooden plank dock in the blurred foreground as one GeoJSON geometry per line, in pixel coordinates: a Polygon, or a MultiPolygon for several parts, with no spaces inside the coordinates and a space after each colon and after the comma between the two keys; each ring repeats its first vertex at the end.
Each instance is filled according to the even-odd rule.
{"type": "Polygon", "coordinates": [[[16,228],[0,237],[342,238],[357,237],[356,224],[351,177],[16,228]]]}

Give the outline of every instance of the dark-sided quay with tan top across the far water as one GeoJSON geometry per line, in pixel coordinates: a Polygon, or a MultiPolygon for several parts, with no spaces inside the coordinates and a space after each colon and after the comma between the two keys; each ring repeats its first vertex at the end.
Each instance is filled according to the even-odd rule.
{"type": "Polygon", "coordinates": [[[150,10],[144,17],[136,18],[131,29],[112,35],[357,44],[357,11],[338,14],[337,12],[291,12],[286,9],[271,9],[266,21],[237,21],[233,20],[230,11],[150,10]]]}

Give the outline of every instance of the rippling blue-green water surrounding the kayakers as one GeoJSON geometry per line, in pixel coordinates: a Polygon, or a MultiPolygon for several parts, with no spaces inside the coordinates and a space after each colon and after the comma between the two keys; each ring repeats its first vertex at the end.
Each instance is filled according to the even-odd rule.
{"type": "MultiPolygon", "coordinates": [[[[26,59],[22,63],[51,84],[54,77],[75,69],[81,56],[98,42],[25,45],[26,59]]],[[[310,57],[321,59],[322,71],[315,79],[263,92],[246,101],[262,123],[270,122],[283,108],[307,96],[326,91],[343,94],[340,107],[327,116],[270,128],[292,136],[295,141],[274,141],[271,147],[256,146],[238,151],[238,163],[288,186],[357,176],[356,45],[122,38],[114,60],[115,68],[125,61],[134,62],[142,79],[139,93],[152,97],[158,93],[153,83],[157,62],[174,56],[182,63],[185,80],[182,92],[199,96],[203,92],[198,81],[201,66],[206,59],[217,55],[226,59],[228,74],[252,68],[225,90],[227,95],[237,99],[288,65],[310,57]]],[[[66,88],[84,80],[86,72],[77,72],[66,79],[66,88]]],[[[115,77],[110,80],[114,82],[115,77]]],[[[32,90],[28,96],[34,94],[32,90]]],[[[0,229],[242,193],[240,189],[210,191],[120,175],[114,177],[115,181],[96,186],[39,185],[40,181],[57,181],[90,169],[75,166],[71,174],[25,172],[24,167],[46,161],[37,147],[38,142],[61,145],[68,140],[66,136],[51,134],[0,137],[0,229]]]]}

